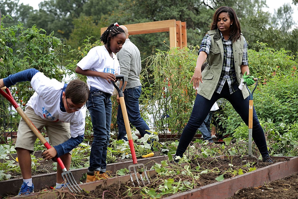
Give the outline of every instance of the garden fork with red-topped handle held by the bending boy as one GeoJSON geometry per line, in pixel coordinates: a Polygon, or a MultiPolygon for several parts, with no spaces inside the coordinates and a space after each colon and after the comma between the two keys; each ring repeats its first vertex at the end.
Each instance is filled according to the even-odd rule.
{"type": "MultiPolygon", "coordinates": [[[[8,88],[3,87],[0,89],[0,93],[3,97],[5,97],[12,105],[13,107],[16,109],[16,111],[21,115],[21,117],[24,119],[24,121],[27,123],[27,125],[30,127],[30,129],[34,132],[34,134],[38,137],[38,139],[42,142],[42,144],[44,144],[44,146],[47,149],[50,149],[51,146],[50,144],[46,141],[46,139],[44,138],[44,136],[41,135],[41,133],[38,131],[38,129],[34,126],[34,124],[32,123],[32,121],[28,118],[28,116],[25,114],[25,112],[23,111],[23,109],[21,109],[18,104],[15,102],[15,100],[13,99],[13,96],[11,95],[11,92],[8,88]],[[4,92],[4,90],[6,92],[4,92]]],[[[58,162],[60,168],[62,169],[63,173],[62,178],[64,180],[65,183],[67,183],[67,188],[73,193],[78,193],[83,191],[80,186],[77,184],[74,176],[72,175],[72,173],[70,171],[67,171],[67,169],[65,168],[62,160],[58,157],[55,158],[56,161],[58,162]]]]}

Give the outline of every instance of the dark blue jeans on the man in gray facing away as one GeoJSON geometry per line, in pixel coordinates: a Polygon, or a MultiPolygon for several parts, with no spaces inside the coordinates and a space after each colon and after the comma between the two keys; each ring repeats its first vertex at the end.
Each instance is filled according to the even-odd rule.
{"type": "MultiPolygon", "coordinates": [[[[150,128],[144,121],[144,119],[140,115],[139,109],[139,97],[141,95],[142,87],[134,87],[125,89],[123,92],[125,106],[127,110],[128,120],[130,123],[136,127],[136,129],[140,132],[140,135],[143,137],[146,133],[150,134],[150,132],[146,131],[150,128]]],[[[127,141],[127,138],[124,137],[126,135],[124,119],[122,115],[121,105],[118,106],[118,113],[117,113],[117,124],[118,124],[118,140],[124,139],[127,141]]]]}

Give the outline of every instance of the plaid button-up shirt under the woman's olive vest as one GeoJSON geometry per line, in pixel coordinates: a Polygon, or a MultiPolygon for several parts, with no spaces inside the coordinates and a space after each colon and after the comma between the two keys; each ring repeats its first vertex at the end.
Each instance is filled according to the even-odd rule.
{"type": "MultiPolygon", "coordinates": [[[[233,90],[232,84],[237,82],[236,73],[235,73],[234,56],[233,56],[233,43],[230,38],[228,40],[225,40],[222,34],[221,34],[221,40],[224,46],[224,60],[223,60],[223,66],[221,70],[221,76],[219,78],[215,91],[217,93],[221,93],[221,90],[224,87],[225,82],[227,81],[230,89],[230,94],[232,94],[233,92],[235,92],[235,90],[233,90]]],[[[211,47],[211,36],[207,33],[202,40],[199,53],[201,51],[204,51],[207,53],[207,55],[209,55],[210,47],[211,47]]],[[[248,65],[248,58],[247,58],[248,45],[245,38],[244,38],[243,47],[244,47],[244,51],[243,51],[243,58],[242,58],[241,65],[248,65]]]]}

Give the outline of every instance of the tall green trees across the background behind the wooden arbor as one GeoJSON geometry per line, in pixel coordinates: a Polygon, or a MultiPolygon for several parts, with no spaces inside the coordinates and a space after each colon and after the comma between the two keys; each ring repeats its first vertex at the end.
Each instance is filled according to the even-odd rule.
{"type": "MultiPolygon", "coordinates": [[[[293,0],[293,3],[297,4],[297,1],[293,0]]],[[[249,48],[258,50],[253,44],[261,41],[276,50],[286,48],[291,51],[289,53],[297,54],[297,46],[293,45],[297,28],[290,29],[294,22],[290,17],[293,10],[288,4],[271,15],[262,11],[266,6],[265,0],[47,0],[39,4],[39,10],[18,5],[17,0],[0,2],[5,11],[3,14],[10,14],[13,18],[10,23],[17,24],[20,20],[24,27],[36,24],[37,28],[46,30],[47,34],[54,31],[55,36],[66,39],[72,48],[79,47],[86,36],[98,40],[100,27],[106,27],[112,22],[133,24],[167,19],[186,21],[188,45],[198,45],[209,30],[214,10],[222,5],[229,5],[241,19],[242,32],[249,42],[249,48]]],[[[168,38],[168,33],[131,37],[139,47],[142,59],[156,53],[156,49],[167,50],[168,38]]]]}

